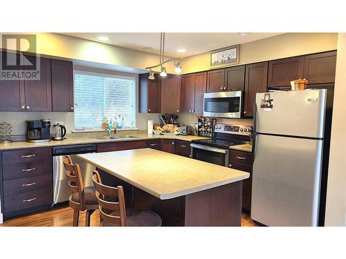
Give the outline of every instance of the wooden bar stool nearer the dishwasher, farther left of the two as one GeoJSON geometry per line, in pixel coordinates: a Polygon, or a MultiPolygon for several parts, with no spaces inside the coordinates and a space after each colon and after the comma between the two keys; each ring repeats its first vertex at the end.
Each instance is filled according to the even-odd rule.
{"type": "Polygon", "coordinates": [[[73,211],[73,227],[78,227],[80,211],[86,210],[85,227],[90,226],[90,216],[98,209],[98,200],[95,196],[95,188],[93,186],[85,187],[80,172],[80,165],[73,164],[71,157],[66,155],[63,160],[66,169],[67,180],[72,194],[69,198],[69,206],[73,211]]]}

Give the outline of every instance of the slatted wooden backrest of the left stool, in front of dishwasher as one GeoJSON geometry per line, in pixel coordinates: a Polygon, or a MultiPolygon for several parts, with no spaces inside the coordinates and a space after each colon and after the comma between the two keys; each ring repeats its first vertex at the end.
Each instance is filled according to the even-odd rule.
{"type": "MultiPolygon", "coordinates": [[[[72,193],[78,193],[79,195],[79,201],[75,202],[76,205],[79,205],[80,209],[83,210],[85,206],[85,198],[84,198],[84,185],[83,185],[83,179],[82,179],[82,173],[80,172],[80,165],[79,164],[73,164],[71,157],[69,155],[66,155],[64,160],[64,167],[66,169],[66,177],[67,180],[69,180],[69,186],[72,193]]],[[[70,199],[71,202],[71,199],[70,199]]]]}

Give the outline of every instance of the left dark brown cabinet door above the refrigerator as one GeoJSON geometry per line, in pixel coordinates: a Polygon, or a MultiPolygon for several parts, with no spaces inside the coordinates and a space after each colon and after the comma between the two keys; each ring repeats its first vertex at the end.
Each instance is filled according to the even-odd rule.
{"type": "Polygon", "coordinates": [[[290,86],[290,81],[303,78],[304,57],[277,59],[268,63],[268,87],[290,86]]]}

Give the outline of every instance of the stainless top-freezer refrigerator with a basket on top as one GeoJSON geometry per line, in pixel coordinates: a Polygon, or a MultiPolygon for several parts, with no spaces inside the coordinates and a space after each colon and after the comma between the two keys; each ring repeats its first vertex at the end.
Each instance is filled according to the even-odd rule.
{"type": "Polygon", "coordinates": [[[251,218],[318,226],[327,90],[257,93],[251,218]]]}

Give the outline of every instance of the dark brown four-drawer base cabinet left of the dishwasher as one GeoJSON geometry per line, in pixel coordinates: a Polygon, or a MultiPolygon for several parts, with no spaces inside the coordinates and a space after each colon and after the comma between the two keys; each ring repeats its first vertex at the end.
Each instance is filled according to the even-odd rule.
{"type": "Polygon", "coordinates": [[[51,207],[53,203],[51,148],[3,151],[1,160],[5,218],[51,207]]]}

